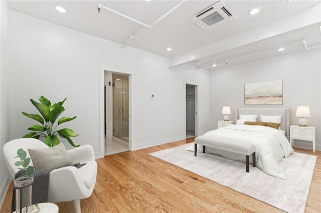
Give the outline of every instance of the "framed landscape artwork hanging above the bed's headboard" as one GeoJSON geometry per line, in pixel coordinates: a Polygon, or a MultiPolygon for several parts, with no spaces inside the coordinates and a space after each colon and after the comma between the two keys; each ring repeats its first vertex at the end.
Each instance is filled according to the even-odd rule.
{"type": "Polygon", "coordinates": [[[282,104],[282,79],[244,83],[244,104],[282,104]]]}

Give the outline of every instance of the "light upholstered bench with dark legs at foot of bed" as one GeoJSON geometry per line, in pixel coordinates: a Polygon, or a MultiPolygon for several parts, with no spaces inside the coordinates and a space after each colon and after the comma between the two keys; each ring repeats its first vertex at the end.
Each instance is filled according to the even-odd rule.
{"type": "Polygon", "coordinates": [[[205,153],[205,146],[217,148],[234,153],[244,154],[246,162],[246,172],[249,172],[249,155],[252,154],[253,167],[255,167],[255,145],[249,142],[241,142],[235,140],[224,139],[220,137],[213,137],[202,135],[194,140],[194,155],[196,156],[197,144],[203,145],[203,153],[205,153]]]}

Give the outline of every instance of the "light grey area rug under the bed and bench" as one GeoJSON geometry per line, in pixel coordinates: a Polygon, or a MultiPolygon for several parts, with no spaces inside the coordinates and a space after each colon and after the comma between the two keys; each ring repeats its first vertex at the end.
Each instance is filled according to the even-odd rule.
{"type": "Polygon", "coordinates": [[[316,156],[293,152],[280,160],[287,180],[270,176],[250,164],[225,157],[185,150],[194,143],[184,144],[150,153],[221,185],[232,188],[286,212],[304,212],[316,156]]]}

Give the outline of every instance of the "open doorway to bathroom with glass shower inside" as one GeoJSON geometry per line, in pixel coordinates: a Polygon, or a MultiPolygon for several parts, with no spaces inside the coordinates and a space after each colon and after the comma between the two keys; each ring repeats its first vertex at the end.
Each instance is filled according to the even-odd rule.
{"type": "Polygon", "coordinates": [[[130,75],[105,71],[105,155],[130,150],[130,75]]]}

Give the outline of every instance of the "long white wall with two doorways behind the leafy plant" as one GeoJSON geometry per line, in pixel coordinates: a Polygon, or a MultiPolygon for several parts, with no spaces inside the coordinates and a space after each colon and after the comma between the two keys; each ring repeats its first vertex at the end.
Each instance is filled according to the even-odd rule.
{"type": "MultiPolygon", "coordinates": [[[[57,102],[67,97],[62,115],[77,115],[75,120],[64,123],[80,133],[74,138],[75,143],[90,143],[96,157],[103,156],[104,147],[100,143],[104,133],[100,129],[103,86],[100,85],[104,84],[104,73],[101,67],[131,74],[133,150],[185,137],[184,70],[169,69],[168,58],[131,47],[123,49],[118,43],[16,11],[10,14],[10,127],[15,129],[11,138],[26,134],[27,128],[34,124],[21,114],[21,111],[37,112],[30,98],[36,100],[44,95],[57,102]],[[150,98],[150,93],[155,97],[150,98]],[[162,135],[161,131],[168,133],[162,135]]],[[[190,73],[187,78],[199,80],[197,84],[208,94],[208,71],[200,76],[195,70],[187,72],[190,73]]],[[[200,107],[207,110],[204,112],[207,114],[208,95],[202,100],[200,107]]],[[[208,129],[208,121],[202,121],[201,126],[208,129]]],[[[62,141],[71,148],[68,142],[62,141]]]]}

